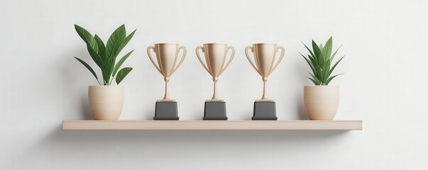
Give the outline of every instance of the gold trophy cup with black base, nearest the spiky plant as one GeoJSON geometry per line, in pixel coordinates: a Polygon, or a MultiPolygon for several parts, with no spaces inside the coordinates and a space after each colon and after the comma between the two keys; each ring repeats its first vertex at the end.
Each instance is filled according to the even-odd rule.
{"type": "Polygon", "coordinates": [[[253,68],[256,69],[256,72],[260,74],[263,81],[263,96],[260,100],[254,102],[252,120],[278,120],[276,117],[275,101],[270,100],[267,96],[266,81],[268,81],[269,75],[272,74],[276,67],[278,67],[278,64],[280,64],[282,57],[284,57],[284,52],[284,47],[276,44],[258,43],[253,44],[252,47],[247,46],[245,48],[245,55],[248,62],[250,62],[253,68]],[[251,52],[253,52],[256,65],[251,62],[250,55],[248,55],[248,50],[250,49],[251,52]],[[275,62],[275,55],[278,50],[281,50],[281,55],[274,66],[273,62],[275,62]]]}

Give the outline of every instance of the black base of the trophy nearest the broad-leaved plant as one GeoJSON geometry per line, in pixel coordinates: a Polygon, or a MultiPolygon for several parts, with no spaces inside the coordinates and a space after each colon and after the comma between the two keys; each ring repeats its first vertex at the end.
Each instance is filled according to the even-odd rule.
{"type": "Polygon", "coordinates": [[[153,120],[179,120],[176,101],[157,101],[153,120]]]}

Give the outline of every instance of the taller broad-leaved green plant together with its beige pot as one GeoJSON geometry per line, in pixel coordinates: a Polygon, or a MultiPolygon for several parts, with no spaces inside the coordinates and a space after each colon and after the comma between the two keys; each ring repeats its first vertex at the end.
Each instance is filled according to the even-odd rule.
{"type": "Polygon", "coordinates": [[[131,40],[136,30],[126,35],[125,25],[122,25],[114,30],[105,45],[97,34],[92,35],[87,30],[77,25],[75,25],[75,30],[86,43],[89,55],[101,69],[102,74],[101,84],[94,69],[92,69],[87,62],[75,57],[77,61],[82,63],[84,67],[94,75],[99,84],[99,86],[88,87],[89,108],[91,109],[91,113],[95,120],[118,120],[124,106],[124,87],[112,86],[111,83],[116,77],[116,84],[119,85],[132,70],[131,67],[125,67],[120,70],[119,68],[129,55],[131,55],[133,50],[124,55],[124,57],[121,57],[117,63],[116,58],[126,44],[128,44],[129,40],[131,40]]]}

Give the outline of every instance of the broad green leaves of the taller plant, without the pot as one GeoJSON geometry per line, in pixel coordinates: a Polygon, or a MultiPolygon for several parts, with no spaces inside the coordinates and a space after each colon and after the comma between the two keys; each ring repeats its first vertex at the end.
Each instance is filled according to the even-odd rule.
{"type": "MultiPolygon", "coordinates": [[[[119,55],[121,50],[124,49],[126,44],[128,44],[129,40],[131,40],[133,34],[136,33],[136,30],[126,36],[125,25],[119,26],[119,28],[114,30],[114,32],[111,34],[106,45],[104,45],[104,42],[102,42],[101,38],[99,38],[97,34],[92,35],[87,30],[80,26],[77,26],[76,24],[75,30],[77,31],[77,34],[79,34],[80,38],[82,38],[82,40],[86,43],[87,50],[89,52],[89,55],[92,57],[92,60],[94,60],[95,64],[97,64],[98,67],[101,69],[104,86],[111,85],[111,81],[113,81],[115,76],[116,84],[119,85],[119,83],[124,80],[124,78],[129,74],[129,72],[131,72],[132,68],[125,67],[119,72],[117,71],[119,70],[119,67],[124,64],[125,60],[129,57],[129,55],[131,55],[133,50],[124,55],[124,57],[122,57],[121,60],[119,60],[119,62],[117,63],[116,57],[119,55]]],[[[89,64],[87,64],[83,60],[80,60],[77,57],[75,57],[75,59],[82,63],[84,67],[89,69],[89,72],[94,75],[95,79],[97,79],[98,81],[98,84],[101,86],[97,74],[94,72],[94,69],[92,69],[92,67],[90,67],[89,64]]]]}

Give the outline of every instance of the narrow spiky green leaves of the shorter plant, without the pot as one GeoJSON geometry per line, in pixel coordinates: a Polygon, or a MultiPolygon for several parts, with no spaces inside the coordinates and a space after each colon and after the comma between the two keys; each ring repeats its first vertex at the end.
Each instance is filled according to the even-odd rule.
{"type": "Polygon", "coordinates": [[[337,64],[339,64],[339,62],[345,57],[341,57],[341,59],[338,60],[336,64],[331,67],[331,63],[333,62],[334,56],[336,55],[336,52],[339,51],[340,47],[336,50],[336,52],[333,53],[333,55],[331,55],[333,37],[330,37],[329,40],[327,40],[324,47],[322,46],[322,44],[317,45],[317,43],[312,40],[313,51],[310,50],[309,47],[307,47],[307,45],[305,45],[304,43],[303,45],[310,53],[310,55],[304,57],[304,55],[299,52],[300,55],[302,55],[302,57],[304,58],[304,60],[306,60],[307,64],[309,64],[309,67],[311,67],[312,73],[309,72],[309,74],[311,74],[312,78],[308,78],[317,86],[329,85],[330,81],[334,79],[334,77],[340,75],[336,74],[334,76],[331,76],[331,72],[333,72],[337,64]]]}

